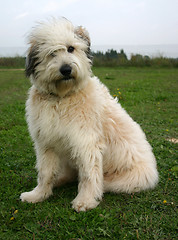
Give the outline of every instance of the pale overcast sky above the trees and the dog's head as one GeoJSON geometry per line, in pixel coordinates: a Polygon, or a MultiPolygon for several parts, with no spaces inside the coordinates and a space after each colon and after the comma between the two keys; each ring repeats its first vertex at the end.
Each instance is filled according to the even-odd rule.
{"type": "Polygon", "coordinates": [[[0,0],[0,46],[25,46],[50,16],[85,26],[93,45],[178,44],[178,0],[0,0]]]}

